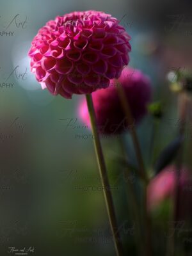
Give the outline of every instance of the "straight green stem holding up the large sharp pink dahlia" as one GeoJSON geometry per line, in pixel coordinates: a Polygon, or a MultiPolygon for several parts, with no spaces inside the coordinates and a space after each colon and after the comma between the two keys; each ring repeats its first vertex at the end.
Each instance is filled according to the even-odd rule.
{"type": "Polygon", "coordinates": [[[97,129],[97,123],[96,123],[96,117],[95,117],[95,109],[93,107],[93,100],[92,100],[91,94],[86,95],[86,102],[87,102],[88,111],[90,114],[90,120],[91,120],[91,124],[92,124],[95,154],[97,156],[97,163],[99,166],[100,179],[102,182],[102,186],[104,188],[104,198],[105,198],[105,202],[106,202],[106,208],[108,211],[111,232],[113,234],[113,241],[115,243],[116,255],[122,256],[123,255],[123,247],[122,247],[120,233],[119,233],[118,226],[117,226],[115,209],[114,209],[114,205],[113,205],[113,198],[112,198],[111,190],[109,187],[108,173],[106,170],[106,164],[104,161],[102,147],[100,144],[99,132],[97,129]]]}

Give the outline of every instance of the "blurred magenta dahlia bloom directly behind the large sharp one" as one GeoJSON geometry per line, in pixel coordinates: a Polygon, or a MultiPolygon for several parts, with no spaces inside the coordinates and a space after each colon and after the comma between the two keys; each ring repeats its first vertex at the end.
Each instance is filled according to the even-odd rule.
{"type": "MultiPolygon", "coordinates": [[[[129,128],[116,86],[124,88],[135,123],[138,123],[147,113],[147,103],[151,98],[148,77],[140,70],[125,67],[118,83],[111,80],[108,88],[100,89],[92,94],[97,125],[99,131],[104,134],[118,134],[129,128]]],[[[81,120],[90,127],[88,108],[84,99],[79,104],[78,112],[81,120]]]]}

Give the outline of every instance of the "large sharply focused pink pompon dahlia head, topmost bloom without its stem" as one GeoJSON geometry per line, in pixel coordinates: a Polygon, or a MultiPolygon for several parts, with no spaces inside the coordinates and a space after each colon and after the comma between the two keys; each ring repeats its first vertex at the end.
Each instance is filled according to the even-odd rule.
{"type": "Polygon", "coordinates": [[[33,38],[31,72],[53,95],[71,98],[109,86],[129,63],[130,36],[104,12],[72,12],[47,22],[33,38]]]}

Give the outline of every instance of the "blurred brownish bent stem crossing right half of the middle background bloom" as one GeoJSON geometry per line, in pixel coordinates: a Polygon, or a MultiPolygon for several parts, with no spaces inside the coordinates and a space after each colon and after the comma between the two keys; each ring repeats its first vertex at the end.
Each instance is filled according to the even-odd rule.
{"type": "Polygon", "coordinates": [[[140,171],[140,177],[143,180],[143,219],[144,219],[144,229],[145,229],[145,255],[150,256],[152,255],[152,248],[151,248],[151,225],[150,225],[150,218],[148,216],[148,210],[147,210],[147,184],[148,184],[148,177],[147,174],[145,173],[145,166],[143,163],[143,157],[141,154],[141,149],[140,149],[140,143],[138,141],[138,136],[136,134],[136,130],[134,127],[134,119],[132,118],[132,113],[131,109],[129,106],[129,102],[127,100],[127,97],[125,96],[124,93],[124,88],[118,84],[118,81],[116,81],[116,89],[118,92],[118,95],[120,97],[120,101],[122,104],[122,108],[124,109],[126,120],[127,120],[127,125],[129,127],[129,130],[131,132],[131,138],[132,138],[132,143],[134,145],[134,150],[136,153],[136,158],[138,161],[139,165],[139,171],[140,171]]]}

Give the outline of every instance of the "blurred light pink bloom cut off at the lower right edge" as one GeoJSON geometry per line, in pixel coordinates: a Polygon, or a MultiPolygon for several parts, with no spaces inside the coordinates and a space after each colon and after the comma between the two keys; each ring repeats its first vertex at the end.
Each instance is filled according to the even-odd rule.
{"type": "MultiPolygon", "coordinates": [[[[148,209],[156,209],[166,199],[172,199],[176,187],[175,166],[167,166],[150,181],[147,189],[148,209]]],[[[192,212],[192,179],[187,168],[182,167],[179,178],[179,216],[192,212]]]]}

